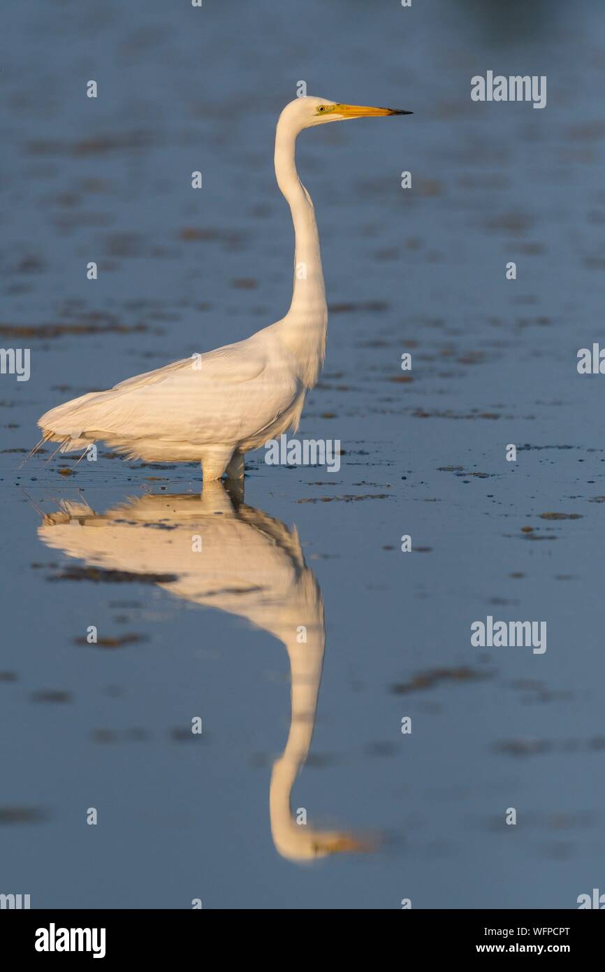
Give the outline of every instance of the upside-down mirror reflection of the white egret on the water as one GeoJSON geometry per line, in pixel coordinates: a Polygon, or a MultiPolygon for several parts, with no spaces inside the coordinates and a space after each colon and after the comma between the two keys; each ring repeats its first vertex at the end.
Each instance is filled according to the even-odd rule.
{"type": "Polygon", "coordinates": [[[148,495],[99,514],[86,503],[63,501],[59,511],[45,515],[38,533],[48,546],[89,566],[155,575],[170,593],[246,617],[284,642],[291,721],[271,775],[275,846],[292,860],[370,849],[352,834],[298,824],[290,810],[292,786],[313,736],[325,642],[318,582],[295,528],[232,502],[222,485],[209,483],[201,497],[148,495]]]}

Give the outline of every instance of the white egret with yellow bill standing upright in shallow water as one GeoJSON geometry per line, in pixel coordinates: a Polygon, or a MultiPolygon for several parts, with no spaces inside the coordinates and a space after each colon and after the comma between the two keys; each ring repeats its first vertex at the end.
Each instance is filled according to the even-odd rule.
{"type": "MultiPolygon", "coordinates": [[[[51,408],[38,421],[60,452],[102,439],[130,459],[201,463],[204,481],[244,476],[244,454],[296,431],[325,356],[327,304],[311,196],[300,182],[295,143],[329,121],[411,115],[390,108],[295,98],[282,112],[275,173],[295,234],[294,285],[286,316],[252,337],[136,375],[107,392],[51,408]]],[[[52,457],[50,457],[52,458],[52,457]]]]}

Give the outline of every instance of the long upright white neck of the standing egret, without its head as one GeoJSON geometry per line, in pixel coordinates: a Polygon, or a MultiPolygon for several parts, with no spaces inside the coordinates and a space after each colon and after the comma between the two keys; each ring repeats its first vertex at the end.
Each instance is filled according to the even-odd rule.
{"type": "Polygon", "coordinates": [[[275,138],[275,174],[286,197],[294,224],[294,286],[286,317],[279,322],[282,340],[300,364],[300,377],[312,388],[325,357],[327,304],[319,233],[311,196],[305,189],[294,160],[296,135],[291,122],[281,118],[275,138]]]}

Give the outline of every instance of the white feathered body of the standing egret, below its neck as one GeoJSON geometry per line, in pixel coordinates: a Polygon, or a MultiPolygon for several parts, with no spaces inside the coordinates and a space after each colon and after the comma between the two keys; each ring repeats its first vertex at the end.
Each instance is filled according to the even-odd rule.
{"type": "MultiPolygon", "coordinates": [[[[271,329],[92,392],[40,420],[63,451],[95,439],[132,459],[202,464],[218,479],[238,457],[296,427],[306,388],[271,329]]],[[[237,478],[237,474],[233,478],[237,478]]]]}

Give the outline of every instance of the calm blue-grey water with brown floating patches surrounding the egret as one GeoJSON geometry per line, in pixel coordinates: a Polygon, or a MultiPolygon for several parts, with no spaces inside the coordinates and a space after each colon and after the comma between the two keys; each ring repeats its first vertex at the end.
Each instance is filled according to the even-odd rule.
{"type": "Polygon", "coordinates": [[[0,892],[576,907],[605,881],[605,378],[576,368],[604,333],[601,5],[25,0],[0,19],[0,343],[31,349],[29,381],[0,375],[0,892]],[[546,108],[471,101],[487,70],[546,75],[546,108]],[[261,451],[245,505],[213,512],[194,466],[101,447],[17,469],[52,405],[283,315],[273,135],[300,81],[415,113],[298,143],[331,306],[298,437],[340,439],[340,471],[261,451]],[[171,538],[192,533],[185,583],[171,538]],[[301,847],[305,826],[353,837],[300,860],[270,825],[279,635],[284,612],[310,624],[319,663],[321,609],[291,810],[301,847]],[[546,621],[546,652],[472,646],[487,615],[546,621]]]}

